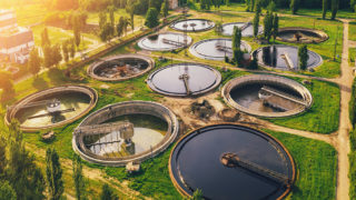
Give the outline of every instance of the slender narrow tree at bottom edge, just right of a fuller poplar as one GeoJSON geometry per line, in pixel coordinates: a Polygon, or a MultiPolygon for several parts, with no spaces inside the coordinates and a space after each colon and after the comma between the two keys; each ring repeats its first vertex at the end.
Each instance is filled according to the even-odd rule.
{"type": "Polygon", "coordinates": [[[86,183],[85,178],[82,176],[82,163],[78,154],[73,156],[72,166],[77,199],[86,199],[86,183]]]}

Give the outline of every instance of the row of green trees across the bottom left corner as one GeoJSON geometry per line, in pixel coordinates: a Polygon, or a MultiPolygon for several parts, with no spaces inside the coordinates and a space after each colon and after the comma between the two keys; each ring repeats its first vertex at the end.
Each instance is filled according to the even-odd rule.
{"type": "MultiPolygon", "coordinates": [[[[62,198],[65,192],[63,170],[56,149],[48,148],[46,151],[44,176],[36,162],[36,157],[24,148],[19,123],[11,122],[8,136],[0,138],[1,200],[59,200],[62,198]]],[[[82,162],[78,154],[73,154],[72,159],[72,179],[76,198],[78,200],[88,199],[87,180],[82,174],[82,162]]],[[[118,197],[108,184],[103,184],[100,199],[115,200],[118,197]]]]}

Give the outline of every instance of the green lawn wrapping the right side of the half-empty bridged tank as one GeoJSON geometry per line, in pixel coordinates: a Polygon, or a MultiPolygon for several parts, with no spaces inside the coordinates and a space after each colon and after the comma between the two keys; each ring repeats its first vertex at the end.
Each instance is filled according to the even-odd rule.
{"type": "Polygon", "coordinates": [[[268,120],[279,126],[318,133],[336,131],[339,122],[339,88],[335,83],[317,80],[305,87],[309,89],[314,100],[309,110],[295,117],[268,120]]]}

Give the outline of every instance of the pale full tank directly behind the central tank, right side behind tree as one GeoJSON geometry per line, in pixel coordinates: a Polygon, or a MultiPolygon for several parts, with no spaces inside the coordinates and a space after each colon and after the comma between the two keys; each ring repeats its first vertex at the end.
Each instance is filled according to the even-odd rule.
{"type": "MultiPolygon", "coordinates": [[[[225,57],[233,58],[233,40],[231,39],[208,39],[194,43],[189,51],[195,57],[207,60],[225,60],[225,57]]],[[[241,41],[241,50],[251,51],[251,47],[241,41]]]]}

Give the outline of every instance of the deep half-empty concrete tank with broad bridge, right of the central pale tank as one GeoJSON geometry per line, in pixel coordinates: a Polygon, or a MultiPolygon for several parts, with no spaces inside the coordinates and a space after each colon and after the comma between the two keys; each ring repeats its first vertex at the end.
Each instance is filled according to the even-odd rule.
{"type": "Polygon", "coordinates": [[[303,84],[270,74],[233,79],[224,86],[221,96],[239,111],[269,118],[295,116],[313,103],[312,93],[303,84]]]}

